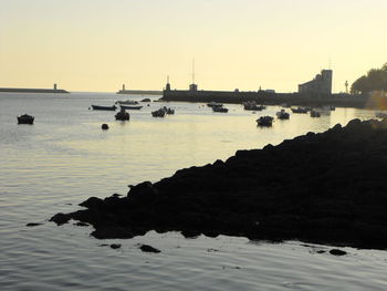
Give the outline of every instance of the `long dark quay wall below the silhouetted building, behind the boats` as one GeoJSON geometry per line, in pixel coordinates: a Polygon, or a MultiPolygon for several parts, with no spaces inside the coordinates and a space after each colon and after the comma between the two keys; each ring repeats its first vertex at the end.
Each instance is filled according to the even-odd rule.
{"type": "Polygon", "coordinates": [[[164,91],[164,101],[182,101],[182,102],[219,102],[240,104],[247,101],[255,101],[258,104],[265,105],[302,105],[318,107],[332,105],[336,107],[357,107],[357,108],[380,108],[380,104],[387,108],[387,98],[380,96],[351,95],[351,94],[332,94],[325,96],[299,94],[299,93],[271,93],[265,91],[259,92],[231,92],[231,91],[186,91],[171,90],[164,91]]]}

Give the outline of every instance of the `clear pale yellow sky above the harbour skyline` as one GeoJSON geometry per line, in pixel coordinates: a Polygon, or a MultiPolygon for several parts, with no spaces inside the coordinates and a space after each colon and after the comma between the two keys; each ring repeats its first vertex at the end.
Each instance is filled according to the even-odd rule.
{"type": "Polygon", "coordinates": [[[0,87],[334,92],[387,63],[386,0],[0,0],[0,87]]]}

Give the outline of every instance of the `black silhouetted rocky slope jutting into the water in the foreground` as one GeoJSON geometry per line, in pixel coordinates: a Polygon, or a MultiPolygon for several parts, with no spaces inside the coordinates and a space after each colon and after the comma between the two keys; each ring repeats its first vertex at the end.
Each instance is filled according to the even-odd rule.
{"type": "Polygon", "coordinates": [[[386,176],[387,119],[354,119],[138,184],[126,197],[91,197],[51,221],[90,224],[98,239],[156,230],[386,249],[386,176]]]}

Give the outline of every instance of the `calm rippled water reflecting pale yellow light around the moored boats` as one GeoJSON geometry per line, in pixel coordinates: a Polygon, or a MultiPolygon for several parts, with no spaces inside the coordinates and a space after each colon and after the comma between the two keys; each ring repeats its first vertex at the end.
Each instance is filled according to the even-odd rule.
{"type": "Polygon", "coordinates": [[[151,102],[124,123],[113,112],[88,110],[127,97],[149,96],[0,94],[1,290],[387,290],[384,251],[345,248],[348,256],[333,257],[317,253],[330,247],[296,241],[185,239],[154,231],[101,241],[90,237],[88,227],[49,222],[91,196],[126,195],[127,185],[224,160],[238,149],[375,116],[373,111],[336,108],[321,118],[292,114],[272,128],[258,128],[258,116],[274,115],[280,107],[253,114],[227,105],[229,113],[222,114],[205,104],[151,102]],[[163,105],[176,114],[151,117],[150,111],[163,105]],[[34,125],[17,124],[17,115],[24,113],[35,116],[34,125]],[[109,129],[102,131],[102,123],[109,129]],[[161,253],[144,253],[138,243],[161,253]]]}

